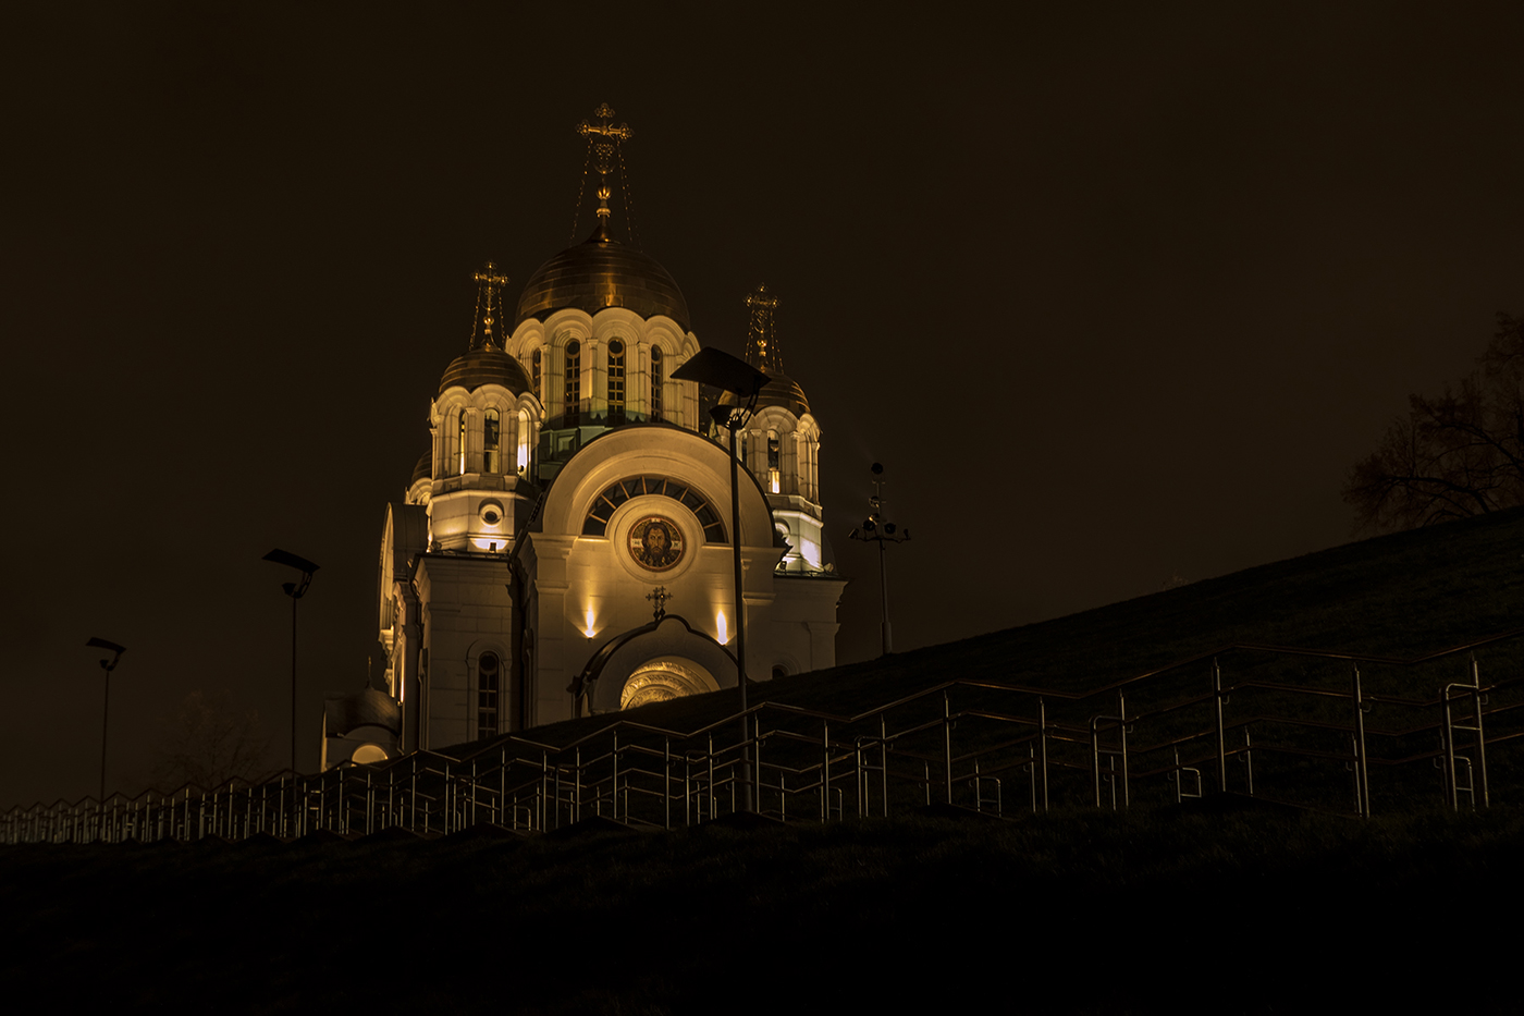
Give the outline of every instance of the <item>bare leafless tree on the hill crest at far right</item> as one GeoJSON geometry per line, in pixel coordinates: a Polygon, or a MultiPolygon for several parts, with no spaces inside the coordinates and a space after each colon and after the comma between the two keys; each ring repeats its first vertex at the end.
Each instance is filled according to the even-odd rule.
{"type": "Polygon", "coordinates": [[[1480,366],[1408,413],[1349,473],[1358,529],[1413,529],[1524,505],[1524,319],[1498,314],[1480,366]]]}

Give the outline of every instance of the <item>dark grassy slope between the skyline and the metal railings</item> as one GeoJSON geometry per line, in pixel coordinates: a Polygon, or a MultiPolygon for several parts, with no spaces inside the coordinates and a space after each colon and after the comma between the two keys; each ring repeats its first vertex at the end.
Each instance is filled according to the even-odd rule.
{"type": "MultiPolygon", "coordinates": [[[[998,595],[998,575],[989,577],[991,595],[998,595]]],[[[1067,618],[760,682],[751,694],[753,700],[855,714],[957,677],[1081,693],[1233,642],[1407,658],[1518,627],[1524,627],[1524,510],[1396,532],[1067,618]]],[[[735,708],[736,693],[719,691],[631,715],[692,729],[735,708]]],[[[607,722],[572,720],[539,728],[536,737],[558,743],[607,722]]]]}

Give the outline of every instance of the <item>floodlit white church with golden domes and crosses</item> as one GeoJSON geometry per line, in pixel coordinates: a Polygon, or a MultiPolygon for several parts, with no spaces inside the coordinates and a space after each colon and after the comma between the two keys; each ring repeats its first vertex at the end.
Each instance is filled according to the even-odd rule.
{"type": "MultiPolygon", "coordinates": [[[[672,276],[614,240],[610,172],[631,131],[584,122],[597,226],[546,261],[512,316],[475,275],[469,346],[439,378],[428,450],[387,506],[384,682],[329,699],[323,767],[735,686],[733,543],[751,680],[835,664],[838,578],[823,535],[820,427],[782,369],[759,287],[745,358],[768,375],[730,452],[672,276]]],[[[739,308],[738,308],[739,314],[739,308]]],[[[725,397],[732,400],[732,397],[725,397]]]]}

